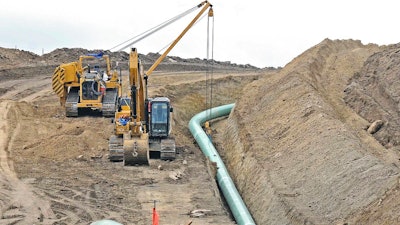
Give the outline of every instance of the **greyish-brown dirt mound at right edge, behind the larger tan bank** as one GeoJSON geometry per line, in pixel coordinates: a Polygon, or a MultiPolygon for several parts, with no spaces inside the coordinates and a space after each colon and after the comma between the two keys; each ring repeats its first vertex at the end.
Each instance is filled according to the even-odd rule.
{"type": "Polygon", "coordinates": [[[345,90],[345,101],[371,124],[369,132],[386,148],[400,150],[400,45],[389,46],[365,62],[345,90]]]}

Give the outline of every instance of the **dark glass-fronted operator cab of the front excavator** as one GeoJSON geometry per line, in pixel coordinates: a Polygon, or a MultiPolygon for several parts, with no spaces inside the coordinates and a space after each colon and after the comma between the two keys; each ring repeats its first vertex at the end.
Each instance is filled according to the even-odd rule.
{"type": "Polygon", "coordinates": [[[171,132],[170,112],[173,111],[170,100],[166,97],[157,97],[149,104],[150,137],[168,137],[171,132]]]}

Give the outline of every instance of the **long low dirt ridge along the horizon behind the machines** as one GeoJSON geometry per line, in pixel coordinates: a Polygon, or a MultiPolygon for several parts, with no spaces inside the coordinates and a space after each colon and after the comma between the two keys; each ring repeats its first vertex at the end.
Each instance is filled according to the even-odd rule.
{"type": "MultiPolygon", "coordinates": [[[[0,48],[0,79],[10,80],[21,77],[35,77],[37,75],[52,74],[54,69],[63,63],[76,62],[79,56],[87,54],[103,53],[110,56],[112,69],[117,69],[117,62],[122,70],[128,68],[129,54],[126,52],[111,52],[109,50],[87,50],[83,48],[58,48],[54,51],[38,56],[34,53],[18,50],[0,48]]],[[[158,59],[160,54],[139,54],[143,67],[148,70],[158,59]]],[[[156,68],[155,72],[183,72],[183,71],[259,71],[260,68],[246,64],[235,64],[229,61],[211,61],[206,59],[183,59],[177,56],[167,56],[156,68]]],[[[275,71],[276,68],[264,68],[266,71],[275,71]]]]}

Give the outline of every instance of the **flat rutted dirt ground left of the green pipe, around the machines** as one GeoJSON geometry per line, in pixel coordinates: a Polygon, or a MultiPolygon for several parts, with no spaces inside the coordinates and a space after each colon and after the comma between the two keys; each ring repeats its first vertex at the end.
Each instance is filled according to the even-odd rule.
{"type": "MultiPolygon", "coordinates": [[[[160,224],[235,224],[187,128],[189,119],[205,109],[206,73],[151,76],[150,94],[172,99],[179,154],[171,162],[151,160],[149,167],[124,167],[107,159],[111,119],[66,118],[51,90],[55,67],[50,64],[68,57],[76,60],[76,50],[57,50],[51,55],[63,52],[62,60],[52,57],[53,61],[0,50],[7,59],[1,61],[0,76],[0,224],[89,224],[101,219],[150,224],[154,201],[160,224]],[[30,57],[34,59],[28,65],[24,59],[30,57]],[[190,211],[196,209],[207,213],[193,217],[190,211]]],[[[246,83],[258,79],[257,71],[214,73],[220,80],[215,90],[233,93],[215,103],[235,101],[246,83]]]]}

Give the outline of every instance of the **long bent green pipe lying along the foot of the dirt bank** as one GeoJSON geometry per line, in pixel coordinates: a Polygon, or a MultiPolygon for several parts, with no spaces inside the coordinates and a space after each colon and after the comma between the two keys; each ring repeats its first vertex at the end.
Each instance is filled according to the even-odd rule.
{"type": "Polygon", "coordinates": [[[228,115],[234,106],[235,104],[223,105],[196,114],[189,122],[189,129],[204,155],[209,158],[210,161],[217,164],[218,185],[221,188],[222,194],[228,203],[236,223],[239,225],[255,225],[221,157],[210,138],[201,127],[201,124],[204,124],[207,120],[228,115]]]}

